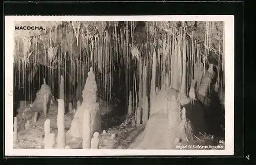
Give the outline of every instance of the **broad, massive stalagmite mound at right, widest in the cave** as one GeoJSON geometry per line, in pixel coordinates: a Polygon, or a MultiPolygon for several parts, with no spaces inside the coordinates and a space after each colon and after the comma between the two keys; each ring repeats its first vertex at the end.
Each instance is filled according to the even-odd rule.
{"type": "Polygon", "coordinates": [[[179,141],[189,141],[203,127],[203,109],[193,114],[188,104],[180,100],[179,92],[163,86],[155,98],[151,116],[145,130],[137,137],[130,149],[175,149],[179,141]],[[183,108],[182,108],[183,106],[183,108]],[[186,110],[186,108],[188,108],[186,110]],[[195,119],[199,120],[195,123],[195,119]]]}

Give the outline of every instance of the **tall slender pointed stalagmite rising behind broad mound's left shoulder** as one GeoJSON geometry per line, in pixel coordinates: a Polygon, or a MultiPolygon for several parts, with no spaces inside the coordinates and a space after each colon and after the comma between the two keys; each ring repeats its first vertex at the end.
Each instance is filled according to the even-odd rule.
{"type": "Polygon", "coordinates": [[[153,53],[153,66],[152,66],[152,79],[151,79],[151,93],[150,93],[150,104],[153,107],[153,103],[156,97],[156,67],[157,67],[157,53],[154,49],[153,53]]]}

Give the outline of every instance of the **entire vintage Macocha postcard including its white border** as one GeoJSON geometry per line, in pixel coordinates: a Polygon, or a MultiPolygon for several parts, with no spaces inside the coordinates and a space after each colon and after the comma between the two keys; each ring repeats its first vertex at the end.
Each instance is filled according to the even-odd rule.
{"type": "Polygon", "coordinates": [[[5,98],[6,156],[233,155],[234,17],[6,16],[5,98]]]}

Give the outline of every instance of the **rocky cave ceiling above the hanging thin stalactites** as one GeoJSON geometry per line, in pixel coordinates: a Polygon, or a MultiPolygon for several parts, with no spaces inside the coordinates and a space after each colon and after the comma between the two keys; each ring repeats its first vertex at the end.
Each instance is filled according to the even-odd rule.
{"type": "MultiPolygon", "coordinates": [[[[186,27],[188,38],[193,37],[198,43],[205,41],[205,22],[197,21],[77,21],[77,29],[72,26],[72,21],[34,21],[15,22],[15,26],[42,26],[44,30],[22,31],[14,33],[16,45],[16,57],[24,57],[29,61],[35,53],[45,54],[47,52],[62,53],[70,52],[73,59],[78,59],[81,51],[90,49],[95,39],[99,39],[106,33],[123,33],[124,40],[128,39],[130,44],[145,45],[163,40],[167,33],[180,33],[180,27],[186,27]],[[173,28],[175,27],[175,28],[173,28]],[[78,33],[77,33],[78,32],[78,33]],[[133,34],[133,35],[131,35],[133,34]],[[127,37],[128,35],[129,37],[127,37]]],[[[222,54],[223,42],[223,22],[212,23],[211,45],[212,49],[222,54]]],[[[118,37],[112,35],[110,37],[118,37]]],[[[140,48],[139,48],[140,49],[140,48]]],[[[141,50],[141,49],[140,49],[141,50]]],[[[44,59],[40,59],[41,64],[46,64],[44,59]]]]}

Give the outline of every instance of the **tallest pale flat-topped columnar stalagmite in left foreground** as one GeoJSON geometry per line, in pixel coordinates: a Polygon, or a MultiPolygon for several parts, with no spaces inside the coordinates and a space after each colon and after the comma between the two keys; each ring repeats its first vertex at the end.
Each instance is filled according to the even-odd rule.
{"type": "Polygon", "coordinates": [[[58,115],[57,115],[58,136],[57,136],[57,147],[59,149],[65,148],[65,145],[66,145],[64,115],[65,115],[64,100],[58,99],[58,115]]]}

